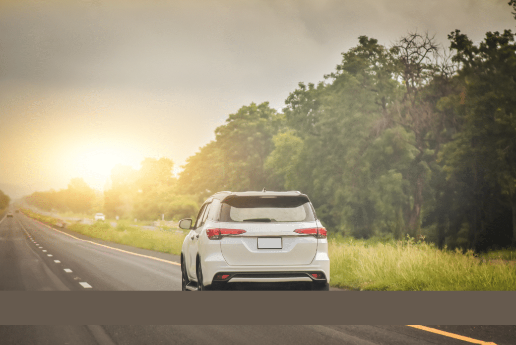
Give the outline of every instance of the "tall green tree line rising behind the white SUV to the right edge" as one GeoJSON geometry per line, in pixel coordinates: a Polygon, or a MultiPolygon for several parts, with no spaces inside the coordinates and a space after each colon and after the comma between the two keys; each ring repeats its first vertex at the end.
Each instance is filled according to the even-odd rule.
{"type": "Polygon", "coordinates": [[[330,231],[357,238],[516,244],[514,37],[487,32],[475,45],[455,30],[448,39],[449,50],[417,32],[390,46],[361,36],[282,112],[265,102],[230,114],[178,188],[201,199],[299,190],[330,231]]]}

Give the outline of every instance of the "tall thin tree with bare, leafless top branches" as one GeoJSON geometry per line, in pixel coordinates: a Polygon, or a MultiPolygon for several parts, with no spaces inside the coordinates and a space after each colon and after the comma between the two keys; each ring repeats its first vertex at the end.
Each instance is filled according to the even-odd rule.
{"type": "Polygon", "coordinates": [[[416,154],[407,169],[408,180],[404,206],[407,232],[420,236],[421,212],[425,194],[431,194],[432,172],[438,173],[436,164],[440,144],[445,141],[443,124],[449,113],[439,111],[437,104],[449,95],[449,82],[455,66],[433,37],[417,32],[409,33],[391,48],[395,77],[403,86],[402,97],[394,103],[392,121],[411,134],[408,142],[416,154]]]}

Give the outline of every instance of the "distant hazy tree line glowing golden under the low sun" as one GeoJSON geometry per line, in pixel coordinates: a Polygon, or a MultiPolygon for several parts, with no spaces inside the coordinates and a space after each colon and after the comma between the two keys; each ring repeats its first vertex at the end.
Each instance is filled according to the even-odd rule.
{"type": "Polygon", "coordinates": [[[104,212],[109,218],[156,220],[194,217],[197,197],[176,192],[173,162],[168,158],[145,158],[139,170],[118,164],[103,194],[90,188],[83,178],[72,178],[67,189],[34,192],[24,200],[42,210],[91,215],[104,212]]]}

